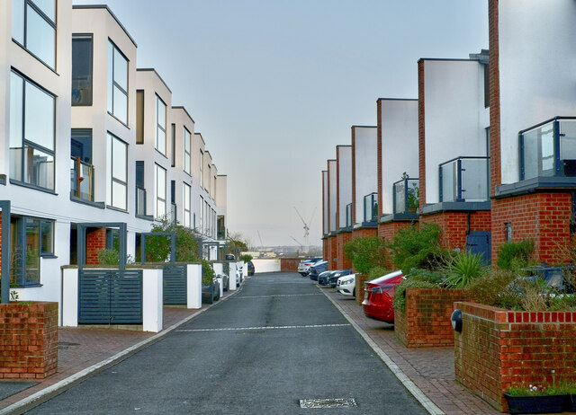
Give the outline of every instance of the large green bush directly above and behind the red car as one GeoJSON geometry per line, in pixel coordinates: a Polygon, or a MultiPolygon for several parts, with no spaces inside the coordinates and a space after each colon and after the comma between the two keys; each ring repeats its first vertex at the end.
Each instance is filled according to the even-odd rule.
{"type": "Polygon", "coordinates": [[[401,229],[390,244],[394,265],[404,272],[441,268],[449,258],[449,253],[440,247],[441,234],[436,224],[401,229]]]}

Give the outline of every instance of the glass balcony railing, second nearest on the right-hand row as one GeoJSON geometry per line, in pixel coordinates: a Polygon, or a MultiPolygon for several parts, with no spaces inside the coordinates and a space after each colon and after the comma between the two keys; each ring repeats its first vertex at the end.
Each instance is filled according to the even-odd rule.
{"type": "Polygon", "coordinates": [[[488,162],[488,157],[458,157],[440,164],[440,201],[488,200],[488,162]]]}

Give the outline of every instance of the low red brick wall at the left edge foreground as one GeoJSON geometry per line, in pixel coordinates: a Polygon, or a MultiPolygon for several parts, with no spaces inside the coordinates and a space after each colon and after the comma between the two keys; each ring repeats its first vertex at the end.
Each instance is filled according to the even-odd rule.
{"type": "Polygon", "coordinates": [[[43,379],[58,368],[58,303],[0,304],[0,379],[43,379]]]}

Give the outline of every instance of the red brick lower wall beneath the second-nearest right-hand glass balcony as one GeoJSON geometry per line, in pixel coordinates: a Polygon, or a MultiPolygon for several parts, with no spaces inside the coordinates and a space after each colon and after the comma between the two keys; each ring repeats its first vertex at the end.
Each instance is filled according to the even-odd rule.
{"type": "MultiPolygon", "coordinates": [[[[439,212],[420,216],[420,224],[437,224],[442,230],[441,244],[446,249],[466,247],[468,212],[439,212]]],[[[491,231],[491,212],[470,212],[470,231],[491,231]]]]}

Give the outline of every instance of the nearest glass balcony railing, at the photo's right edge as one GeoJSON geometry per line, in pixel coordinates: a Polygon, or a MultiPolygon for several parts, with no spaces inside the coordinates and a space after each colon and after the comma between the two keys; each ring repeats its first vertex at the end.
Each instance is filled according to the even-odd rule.
{"type": "Polygon", "coordinates": [[[518,136],[520,180],[576,177],[576,119],[556,117],[518,136]]]}

